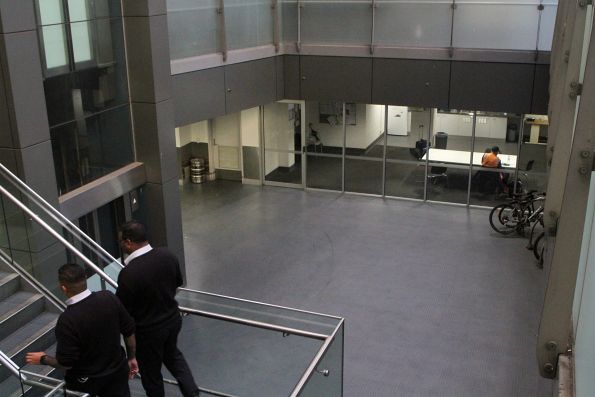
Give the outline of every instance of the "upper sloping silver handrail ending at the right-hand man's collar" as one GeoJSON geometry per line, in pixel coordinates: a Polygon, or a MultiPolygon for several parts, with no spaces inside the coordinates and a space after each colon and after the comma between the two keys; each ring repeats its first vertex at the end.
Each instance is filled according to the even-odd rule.
{"type": "Polygon", "coordinates": [[[31,189],[26,183],[24,183],[18,176],[13,174],[8,168],[0,163],[0,174],[4,175],[5,179],[16,187],[20,192],[24,193],[28,199],[35,202],[40,208],[42,208],[46,214],[48,214],[54,221],[56,221],[61,227],[67,229],[72,235],[76,236],[79,241],[85,244],[94,254],[100,256],[107,263],[116,262],[121,267],[123,265],[114,258],[109,252],[107,252],[101,245],[95,240],[89,237],[85,232],[78,228],[68,218],[66,218],[60,211],[54,208],[53,205],[48,203],[43,197],[37,194],[31,189]]]}

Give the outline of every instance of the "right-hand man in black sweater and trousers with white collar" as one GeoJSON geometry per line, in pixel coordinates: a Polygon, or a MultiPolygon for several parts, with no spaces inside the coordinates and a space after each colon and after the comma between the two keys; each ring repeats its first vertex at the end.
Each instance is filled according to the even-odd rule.
{"type": "Polygon", "coordinates": [[[198,396],[190,368],[177,347],[182,318],[175,295],[183,282],[178,259],[166,248],[152,248],[145,227],[136,221],[122,225],[120,245],[129,255],[118,276],[116,295],[136,322],[138,365],[147,396],[165,395],[162,364],[185,397],[198,396]]]}

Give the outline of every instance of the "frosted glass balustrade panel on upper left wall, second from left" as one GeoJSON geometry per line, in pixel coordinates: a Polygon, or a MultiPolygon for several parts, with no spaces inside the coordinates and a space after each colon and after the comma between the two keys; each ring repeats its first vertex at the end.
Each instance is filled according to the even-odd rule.
{"type": "Polygon", "coordinates": [[[227,47],[230,50],[273,43],[270,0],[225,0],[227,47]]]}

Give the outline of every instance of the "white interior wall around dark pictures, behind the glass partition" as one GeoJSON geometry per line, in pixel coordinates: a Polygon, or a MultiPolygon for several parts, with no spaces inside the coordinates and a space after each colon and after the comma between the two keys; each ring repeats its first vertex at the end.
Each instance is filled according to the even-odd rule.
{"type": "MultiPolygon", "coordinates": [[[[372,144],[384,129],[383,105],[356,105],[356,125],[347,125],[347,146],[350,148],[366,149],[372,144]]],[[[306,127],[312,123],[314,130],[325,146],[343,146],[343,126],[341,121],[336,126],[319,123],[318,102],[306,102],[306,127]]],[[[309,129],[306,128],[306,134],[309,129]]]]}

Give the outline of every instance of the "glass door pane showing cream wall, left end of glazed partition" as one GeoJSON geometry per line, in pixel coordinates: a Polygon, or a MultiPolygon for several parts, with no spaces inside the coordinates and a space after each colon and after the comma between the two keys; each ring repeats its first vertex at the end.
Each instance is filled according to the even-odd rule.
{"type": "Polygon", "coordinates": [[[262,107],[263,183],[304,187],[303,101],[280,101],[262,107]]]}

